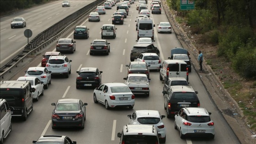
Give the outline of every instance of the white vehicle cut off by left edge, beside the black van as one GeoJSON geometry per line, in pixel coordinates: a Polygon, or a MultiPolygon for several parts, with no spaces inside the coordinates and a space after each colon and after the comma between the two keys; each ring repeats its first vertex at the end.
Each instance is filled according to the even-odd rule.
{"type": "Polygon", "coordinates": [[[0,99],[0,143],[11,132],[11,109],[6,100],[0,99]]]}

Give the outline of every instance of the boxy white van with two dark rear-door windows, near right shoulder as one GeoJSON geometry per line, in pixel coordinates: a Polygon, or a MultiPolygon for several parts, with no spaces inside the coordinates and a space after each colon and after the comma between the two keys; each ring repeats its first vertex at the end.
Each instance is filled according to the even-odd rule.
{"type": "Polygon", "coordinates": [[[187,63],[183,60],[165,60],[160,69],[160,80],[170,77],[184,77],[188,81],[187,63]]]}

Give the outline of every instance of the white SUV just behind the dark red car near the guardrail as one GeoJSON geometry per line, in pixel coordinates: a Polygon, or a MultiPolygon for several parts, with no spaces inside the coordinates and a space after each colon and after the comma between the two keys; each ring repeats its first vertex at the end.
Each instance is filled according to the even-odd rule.
{"type": "Polygon", "coordinates": [[[62,74],[66,78],[69,78],[71,74],[71,63],[67,56],[50,56],[48,63],[46,64],[47,69],[51,71],[52,75],[62,74]]]}

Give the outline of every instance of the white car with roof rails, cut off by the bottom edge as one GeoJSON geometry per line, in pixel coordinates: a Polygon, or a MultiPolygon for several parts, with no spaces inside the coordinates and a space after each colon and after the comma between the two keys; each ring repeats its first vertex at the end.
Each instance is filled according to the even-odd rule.
{"type": "Polygon", "coordinates": [[[125,125],[122,133],[117,133],[120,144],[159,144],[157,129],[154,125],[125,125]]]}

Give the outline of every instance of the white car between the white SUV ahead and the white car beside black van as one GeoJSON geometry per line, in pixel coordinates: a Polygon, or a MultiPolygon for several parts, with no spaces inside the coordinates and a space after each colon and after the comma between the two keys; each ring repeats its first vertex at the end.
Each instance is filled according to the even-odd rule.
{"type": "Polygon", "coordinates": [[[40,81],[43,81],[45,89],[48,89],[48,85],[52,83],[51,71],[45,67],[30,67],[25,71],[25,76],[35,76],[40,81]]]}

